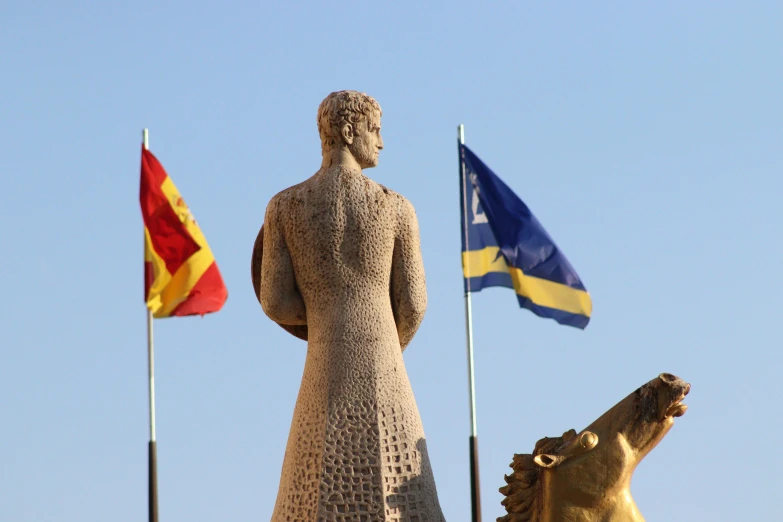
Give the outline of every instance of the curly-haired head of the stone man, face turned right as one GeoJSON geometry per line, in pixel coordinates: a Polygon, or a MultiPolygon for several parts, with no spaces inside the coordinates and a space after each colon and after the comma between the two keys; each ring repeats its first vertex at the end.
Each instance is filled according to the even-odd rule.
{"type": "Polygon", "coordinates": [[[318,133],[324,155],[344,147],[361,168],[375,167],[383,148],[381,106],[363,92],[333,92],[318,107],[318,133]]]}

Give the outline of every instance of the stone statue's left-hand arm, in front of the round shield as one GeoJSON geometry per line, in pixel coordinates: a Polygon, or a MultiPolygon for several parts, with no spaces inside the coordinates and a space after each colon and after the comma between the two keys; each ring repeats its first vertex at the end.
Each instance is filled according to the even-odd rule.
{"type": "Polygon", "coordinates": [[[296,286],[291,254],[280,223],[280,197],[275,196],[264,218],[264,257],[261,261],[260,300],[264,313],[279,324],[306,325],[302,294],[296,286]]]}

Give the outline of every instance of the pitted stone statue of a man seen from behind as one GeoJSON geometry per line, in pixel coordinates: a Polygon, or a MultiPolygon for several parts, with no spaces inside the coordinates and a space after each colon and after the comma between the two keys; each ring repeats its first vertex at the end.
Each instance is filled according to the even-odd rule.
{"type": "Polygon", "coordinates": [[[327,96],[321,168],[272,198],[256,245],[264,312],[308,341],[274,522],[443,520],[402,358],[427,306],[416,214],[362,173],[380,130],[370,96],[327,96]]]}

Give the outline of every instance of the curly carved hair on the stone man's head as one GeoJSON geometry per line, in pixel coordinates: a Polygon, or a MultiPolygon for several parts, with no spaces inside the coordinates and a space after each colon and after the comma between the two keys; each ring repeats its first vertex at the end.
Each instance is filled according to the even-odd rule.
{"type": "Polygon", "coordinates": [[[337,91],[324,98],[318,106],[318,133],[321,148],[328,150],[342,142],[343,125],[380,118],[381,106],[372,96],[358,91],[337,91]]]}

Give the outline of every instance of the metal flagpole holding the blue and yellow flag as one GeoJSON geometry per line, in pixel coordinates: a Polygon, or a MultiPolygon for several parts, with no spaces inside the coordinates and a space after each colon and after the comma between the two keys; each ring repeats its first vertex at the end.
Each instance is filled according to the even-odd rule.
{"type": "MultiPolygon", "coordinates": [[[[459,144],[465,144],[465,126],[460,125],[457,128],[459,144]]],[[[465,248],[468,250],[468,184],[465,179],[465,160],[462,157],[462,150],[459,149],[459,171],[460,171],[460,195],[462,196],[462,228],[465,233],[465,248]]],[[[470,274],[470,258],[465,256],[465,270],[470,274]]],[[[467,332],[468,345],[468,390],[470,397],[470,499],[472,522],[481,522],[481,493],[479,489],[479,468],[478,468],[478,436],[476,435],[476,386],[473,375],[473,314],[470,302],[470,278],[467,279],[467,288],[465,290],[465,330],[467,332]]]]}

